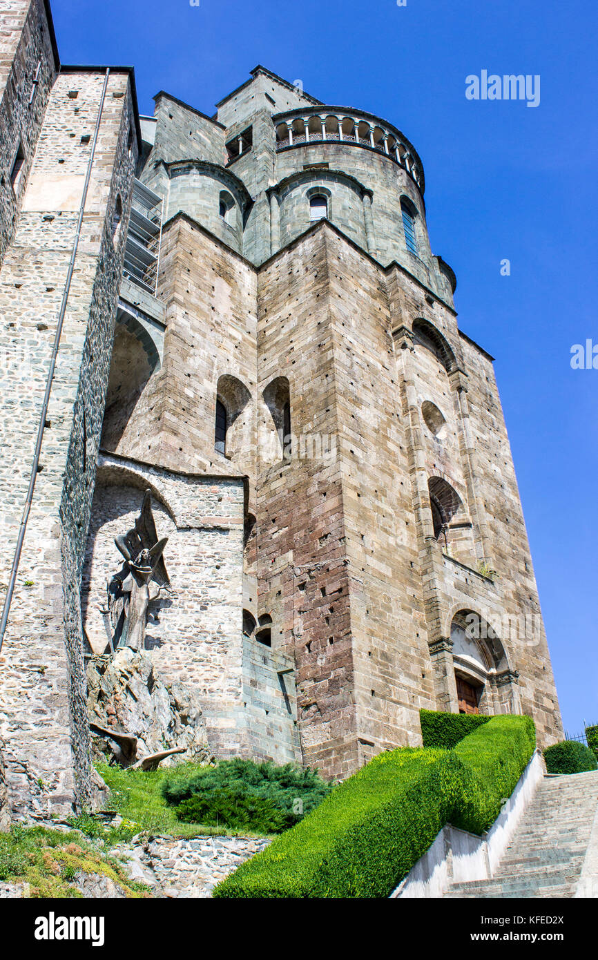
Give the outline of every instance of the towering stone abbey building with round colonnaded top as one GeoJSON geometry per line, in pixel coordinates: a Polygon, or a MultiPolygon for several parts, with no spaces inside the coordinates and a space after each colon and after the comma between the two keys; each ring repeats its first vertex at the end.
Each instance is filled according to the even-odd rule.
{"type": "Polygon", "coordinates": [[[420,708],[559,739],[492,358],[415,147],[261,66],[213,116],[164,91],[139,116],[131,68],[60,64],[42,0],[0,13],[14,812],[90,803],[85,661],[146,491],[144,649],[216,756],[345,777],[418,745],[420,708]]]}

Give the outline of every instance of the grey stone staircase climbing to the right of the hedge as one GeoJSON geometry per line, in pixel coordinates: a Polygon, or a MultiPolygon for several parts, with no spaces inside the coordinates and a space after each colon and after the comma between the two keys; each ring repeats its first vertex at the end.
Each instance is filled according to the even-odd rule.
{"type": "Polygon", "coordinates": [[[573,897],[597,809],[598,772],[544,777],[494,876],[444,897],[573,897]]]}

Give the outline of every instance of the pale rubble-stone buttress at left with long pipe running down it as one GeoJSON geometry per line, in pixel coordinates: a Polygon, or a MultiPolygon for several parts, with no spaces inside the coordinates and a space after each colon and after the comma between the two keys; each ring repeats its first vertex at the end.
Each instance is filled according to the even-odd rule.
{"type": "MultiPolygon", "coordinates": [[[[25,350],[25,363],[2,372],[4,584],[103,83],[103,74],[71,72],[54,85],[0,275],[4,337],[25,350]]],[[[47,817],[91,802],[79,581],[136,156],[131,123],[129,75],[115,72],[108,83],[2,657],[0,729],[12,808],[19,817],[32,810],[47,817]],[[112,236],[119,194],[123,217],[112,236]]]]}

